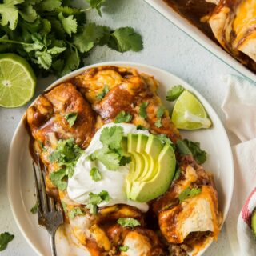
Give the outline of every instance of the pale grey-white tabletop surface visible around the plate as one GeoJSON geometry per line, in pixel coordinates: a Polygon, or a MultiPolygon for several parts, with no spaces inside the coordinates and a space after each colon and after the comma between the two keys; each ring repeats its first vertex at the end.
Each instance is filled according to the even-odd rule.
{"type": "MultiPolygon", "coordinates": [[[[236,74],[236,72],[178,30],[146,2],[142,0],[108,1],[111,3],[103,10],[102,18],[98,17],[94,10],[88,13],[87,18],[113,28],[133,26],[143,35],[144,50],[139,53],[119,54],[106,46],[98,46],[90,57],[86,58],[85,64],[131,61],[170,71],[194,86],[210,102],[223,121],[221,104],[226,88],[220,80],[220,75],[236,74]]],[[[52,81],[54,78],[40,79],[36,94],[42,92],[52,81]]],[[[14,222],[6,192],[8,150],[14,130],[27,106],[10,110],[0,108],[0,233],[9,231],[15,235],[8,248],[0,252],[1,255],[35,255],[14,222]]],[[[224,226],[218,242],[214,242],[205,255],[226,256],[230,254],[230,243],[224,226]]]]}

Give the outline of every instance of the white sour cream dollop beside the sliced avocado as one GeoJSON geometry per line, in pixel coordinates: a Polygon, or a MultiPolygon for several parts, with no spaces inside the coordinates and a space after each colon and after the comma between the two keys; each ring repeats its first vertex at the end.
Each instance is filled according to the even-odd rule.
{"type": "Polygon", "coordinates": [[[127,123],[110,123],[102,126],[102,128],[94,134],[94,138],[91,140],[90,145],[78,159],[78,162],[74,167],[74,175],[68,180],[67,193],[70,199],[74,202],[86,205],[90,200],[90,192],[99,194],[102,190],[106,190],[111,199],[109,202],[101,202],[98,206],[113,206],[122,203],[137,207],[139,210],[142,210],[142,212],[146,212],[149,209],[149,206],[145,202],[135,202],[126,198],[126,176],[129,174],[130,164],[120,166],[118,170],[108,170],[102,162],[98,160],[91,162],[86,159],[87,156],[94,153],[95,150],[102,148],[102,142],[99,139],[102,130],[112,126],[121,126],[123,135],[125,136],[127,134],[149,135],[147,130],[137,130],[136,126],[127,123]],[[93,167],[98,167],[102,173],[102,179],[98,182],[94,182],[90,177],[90,170],[93,167]]]}

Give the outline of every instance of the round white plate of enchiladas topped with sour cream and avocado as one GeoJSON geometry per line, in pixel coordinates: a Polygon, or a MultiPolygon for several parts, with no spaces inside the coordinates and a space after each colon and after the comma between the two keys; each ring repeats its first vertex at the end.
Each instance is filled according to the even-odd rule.
{"type": "Polygon", "coordinates": [[[147,66],[110,64],[61,78],[26,110],[8,170],[18,226],[38,254],[47,254],[40,244],[45,234],[31,237],[31,227],[38,230],[33,216],[22,218],[33,198],[24,192],[33,190],[27,166],[30,155],[38,154],[47,168],[47,193],[65,215],[57,234],[59,254],[202,254],[218,239],[233,190],[225,130],[195,93],[213,126],[182,134],[210,153],[202,166],[205,160],[188,152],[188,141],[170,119],[171,104],[162,97],[163,84],[182,81],[147,66]],[[22,208],[14,187],[21,190],[22,208]]]}

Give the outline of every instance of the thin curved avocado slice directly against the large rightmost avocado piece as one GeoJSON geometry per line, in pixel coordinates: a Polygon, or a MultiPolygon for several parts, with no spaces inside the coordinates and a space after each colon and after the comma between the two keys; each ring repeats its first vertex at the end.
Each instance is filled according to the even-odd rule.
{"type": "Polygon", "coordinates": [[[150,134],[148,137],[147,143],[146,143],[146,149],[145,152],[148,155],[149,158],[149,168],[144,170],[144,173],[141,175],[140,178],[138,178],[138,182],[146,182],[150,181],[150,179],[154,178],[154,175],[156,174],[158,170],[158,156],[162,150],[163,143],[162,141],[154,136],[153,134],[150,134]]]}

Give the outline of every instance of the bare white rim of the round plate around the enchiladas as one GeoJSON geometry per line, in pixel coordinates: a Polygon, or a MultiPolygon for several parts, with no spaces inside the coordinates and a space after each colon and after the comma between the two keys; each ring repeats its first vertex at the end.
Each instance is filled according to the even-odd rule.
{"type": "MultiPolygon", "coordinates": [[[[182,132],[185,138],[200,142],[202,149],[206,150],[209,155],[204,164],[206,170],[210,170],[214,174],[216,182],[219,206],[222,210],[224,219],[230,207],[234,186],[234,170],[233,158],[230,149],[230,142],[227,138],[226,131],[219,120],[218,115],[210,106],[206,99],[202,97],[193,87],[188,85],[182,79],[177,78],[173,74],[159,70],[153,66],[145,66],[132,62],[104,62],[92,66],[83,67],[76,70],[65,77],[58,79],[51,86],[64,82],[66,79],[74,77],[82,71],[95,66],[130,66],[138,69],[140,72],[151,74],[160,82],[159,94],[162,101],[170,108],[170,102],[166,102],[166,91],[171,86],[181,84],[186,89],[197,95],[199,100],[205,106],[206,111],[210,115],[214,123],[213,128],[208,130],[196,130],[182,132]]],[[[49,88],[48,88],[49,89],[49,88]]],[[[23,119],[23,118],[22,118],[23,119]]],[[[8,161],[7,173],[7,190],[10,200],[10,207],[14,214],[14,219],[17,222],[19,229],[26,238],[26,241],[34,249],[37,254],[50,255],[50,243],[46,230],[42,230],[37,223],[36,214],[30,213],[30,208],[34,206],[34,180],[32,173],[29,152],[29,135],[23,124],[23,120],[19,123],[17,130],[14,133],[14,138],[10,145],[10,154],[8,161]]],[[[204,250],[202,250],[203,253],[204,250]]]]}

